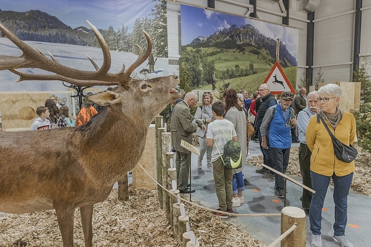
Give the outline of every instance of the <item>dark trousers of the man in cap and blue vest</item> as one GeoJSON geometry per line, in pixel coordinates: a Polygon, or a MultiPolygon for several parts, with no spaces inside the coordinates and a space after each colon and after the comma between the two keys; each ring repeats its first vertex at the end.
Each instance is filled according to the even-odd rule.
{"type": "MultiPolygon", "coordinates": [[[[285,173],[288,165],[288,158],[290,156],[290,149],[282,149],[282,148],[271,148],[272,150],[272,157],[275,164],[275,169],[281,173],[285,173]]],[[[284,190],[284,178],[280,175],[276,175],[276,190],[284,190]]]]}

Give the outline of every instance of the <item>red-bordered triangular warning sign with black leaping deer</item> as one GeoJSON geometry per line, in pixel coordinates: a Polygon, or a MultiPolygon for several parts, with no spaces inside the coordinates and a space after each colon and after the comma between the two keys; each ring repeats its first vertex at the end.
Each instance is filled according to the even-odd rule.
{"type": "Polygon", "coordinates": [[[264,83],[267,83],[271,87],[271,93],[273,94],[281,94],[284,91],[295,93],[294,88],[288,81],[278,61],[273,65],[264,83]]]}

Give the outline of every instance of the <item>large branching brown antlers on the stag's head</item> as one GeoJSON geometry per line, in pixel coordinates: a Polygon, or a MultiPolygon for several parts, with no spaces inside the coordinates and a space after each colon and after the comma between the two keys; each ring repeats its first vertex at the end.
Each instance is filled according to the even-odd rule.
{"type": "Polygon", "coordinates": [[[76,85],[93,86],[93,85],[117,85],[122,84],[124,87],[129,86],[131,73],[142,64],[151,53],[152,41],[148,34],[143,30],[143,33],[147,39],[147,50],[143,53],[142,48],[136,44],[139,48],[138,59],[125,71],[125,65],[119,73],[108,73],[111,67],[111,54],[109,52],[107,43],[104,41],[99,31],[87,21],[89,26],[93,29],[93,32],[101,46],[103,52],[103,64],[102,67],[98,67],[91,57],[88,56],[92,62],[96,71],[83,71],[73,69],[64,65],[61,65],[53,56],[48,52],[51,60],[48,59],[45,54],[36,47],[37,51],[31,46],[21,41],[18,37],[12,34],[7,28],[5,28],[0,22],[0,30],[2,33],[18,46],[23,54],[19,57],[0,55],[0,70],[9,70],[12,73],[19,75],[20,79],[18,82],[25,80],[39,80],[39,81],[65,81],[76,85]],[[19,68],[38,68],[46,70],[54,75],[35,75],[27,74],[17,71],[19,68]],[[124,72],[125,71],[125,72],[124,72]]]}

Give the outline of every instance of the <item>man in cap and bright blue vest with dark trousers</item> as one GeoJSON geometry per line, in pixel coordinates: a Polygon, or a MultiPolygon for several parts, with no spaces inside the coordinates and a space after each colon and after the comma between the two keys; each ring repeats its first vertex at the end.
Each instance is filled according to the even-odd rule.
{"type": "MultiPolygon", "coordinates": [[[[295,112],[290,107],[293,100],[294,94],[292,92],[283,92],[279,104],[268,108],[260,125],[262,148],[267,149],[269,147],[271,149],[274,168],[281,173],[285,173],[288,165],[291,128],[296,125],[295,112]]],[[[278,198],[283,198],[285,195],[283,177],[277,174],[275,174],[275,177],[275,194],[278,198]]]]}

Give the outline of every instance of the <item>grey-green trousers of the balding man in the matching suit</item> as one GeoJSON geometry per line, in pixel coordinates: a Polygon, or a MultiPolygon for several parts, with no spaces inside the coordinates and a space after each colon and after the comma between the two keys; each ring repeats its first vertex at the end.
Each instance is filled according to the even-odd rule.
{"type": "Polygon", "coordinates": [[[190,153],[182,153],[178,150],[175,158],[175,167],[177,168],[178,190],[185,190],[188,184],[190,153]]]}

